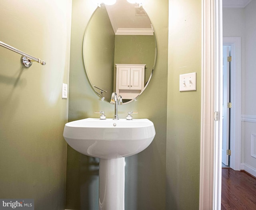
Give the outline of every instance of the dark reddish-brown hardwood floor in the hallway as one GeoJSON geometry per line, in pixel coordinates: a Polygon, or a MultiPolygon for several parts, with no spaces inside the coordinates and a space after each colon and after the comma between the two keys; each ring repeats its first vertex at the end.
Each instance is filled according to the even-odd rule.
{"type": "Polygon", "coordinates": [[[245,172],[222,169],[221,210],[256,210],[256,179],[245,172]]]}

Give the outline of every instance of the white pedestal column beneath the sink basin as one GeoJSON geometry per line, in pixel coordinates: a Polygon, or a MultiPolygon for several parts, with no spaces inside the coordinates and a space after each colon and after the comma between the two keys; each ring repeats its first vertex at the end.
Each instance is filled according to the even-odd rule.
{"type": "Polygon", "coordinates": [[[100,159],[99,210],[124,210],[124,158],[100,159]]]}

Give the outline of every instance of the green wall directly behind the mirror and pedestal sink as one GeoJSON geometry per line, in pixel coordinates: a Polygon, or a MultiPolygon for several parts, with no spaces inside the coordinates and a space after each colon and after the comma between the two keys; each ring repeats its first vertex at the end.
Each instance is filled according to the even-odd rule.
{"type": "MultiPolygon", "coordinates": [[[[103,110],[108,118],[114,105],[101,101],[86,78],[82,43],[86,25],[96,5],[89,0],[73,0],[70,57],[69,121],[98,118],[103,110]]],[[[127,210],[166,209],[166,122],[168,67],[168,0],[148,0],[144,6],[156,32],[158,56],[150,84],[138,101],[118,107],[119,117],[138,111],[136,118],[154,122],[156,137],[143,152],[126,158],[125,206],[127,210]],[[161,12],[159,12],[161,11],[161,12]]],[[[98,206],[98,160],[68,147],[66,208],[95,210],[98,206]]]]}

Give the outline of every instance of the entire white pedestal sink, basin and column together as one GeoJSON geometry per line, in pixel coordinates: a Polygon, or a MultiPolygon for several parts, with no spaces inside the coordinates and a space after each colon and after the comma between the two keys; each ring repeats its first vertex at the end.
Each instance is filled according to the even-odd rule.
{"type": "Polygon", "coordinates": [[[148,119],[86,118],[66,123],[66,142],[82,154],[100,158],[99,210],[124,210],[124,158],[147,148],[155,134],[148,119]]]}

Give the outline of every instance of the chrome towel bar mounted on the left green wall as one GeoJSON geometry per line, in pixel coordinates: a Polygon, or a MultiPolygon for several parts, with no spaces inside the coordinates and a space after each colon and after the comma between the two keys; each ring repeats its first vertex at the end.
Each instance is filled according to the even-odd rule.
{"type": "Polygon", "coordinates": [[[22,52],[21,50],[18,50],[8,44],[5,44],[4,42],[0,41],[0,46],[3,46],[9,50],[12,50],[18,54],[21,54],[21,62],[23,64],[23,66],[25,66],[26,68],[30,67],[32,65],[32,61],[36,61],[38,63],[40,63],[41,65],[45,65],[46,62],[44,60],[41,60],[40,58],[35,58],[34,56],[31,56],[29,54],[26,54],[25,52],[22,52]]]}

